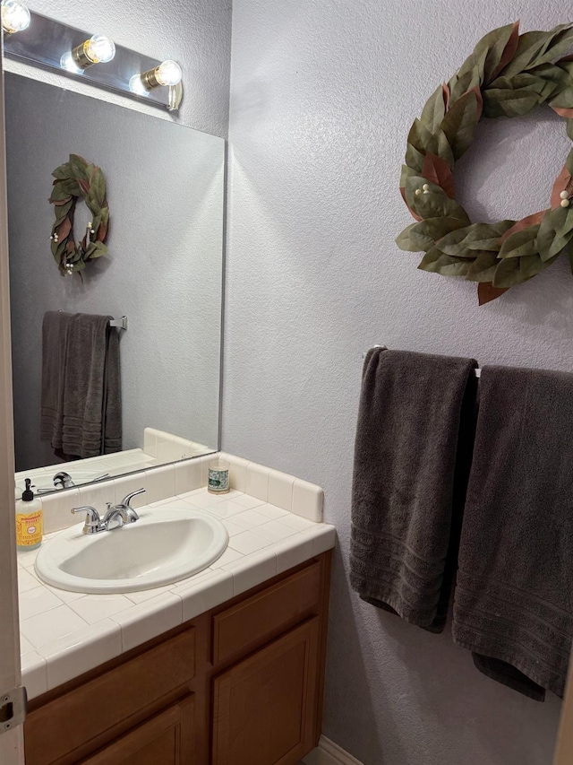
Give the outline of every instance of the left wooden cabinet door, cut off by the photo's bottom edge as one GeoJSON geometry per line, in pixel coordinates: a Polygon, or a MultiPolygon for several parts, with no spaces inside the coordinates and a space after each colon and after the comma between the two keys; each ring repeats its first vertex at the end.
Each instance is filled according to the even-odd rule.
{"type": "Polygon", "coordinates": [[[192,765],[193,697],[168,707],[82,765],[192,765]]]}

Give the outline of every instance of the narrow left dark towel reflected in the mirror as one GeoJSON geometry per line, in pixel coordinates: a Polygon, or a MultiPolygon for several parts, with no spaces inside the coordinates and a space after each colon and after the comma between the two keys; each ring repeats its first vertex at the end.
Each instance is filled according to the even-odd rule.
{"type": "Polygon", "coordinates": [[[47,311],[42,324],[40,439],[62,448],[64,374],[68,328],[73,314],[47,311]]]}

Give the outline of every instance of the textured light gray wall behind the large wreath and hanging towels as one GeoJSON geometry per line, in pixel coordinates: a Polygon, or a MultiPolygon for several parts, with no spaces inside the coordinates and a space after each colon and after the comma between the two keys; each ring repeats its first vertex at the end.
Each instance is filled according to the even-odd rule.
{"type": "MultiPolygon", "coordinates": [[[[339,547],[325,734],[366,765],[548,765],[560,704],[477,673],[448,634],[348,587],[361,354],[373,343],[573,369],[565,258],[483,308],[394,238],[406,134],[483,33],[564,0],[235,0],[223,447],[320,483],[339,547]]],[[[483,124],[459,162],[475,220],[543,209],[569,141],[548,109],[483,124]]],[[[518,403],[518,395],[517,395],[518,403]]]]}

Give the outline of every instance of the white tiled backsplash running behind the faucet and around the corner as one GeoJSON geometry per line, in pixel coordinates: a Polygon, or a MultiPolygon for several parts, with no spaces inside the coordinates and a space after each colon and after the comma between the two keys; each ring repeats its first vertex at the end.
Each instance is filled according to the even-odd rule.
{"type": "MultiPolygon", "coordinates": [[[[146,434],[148,430],[150,429],[146,429],[146,434]]],[[[158,432],[161,431],[154,431],[156,439],[158,432]]],[[[136,509],[142,505],[201,489],[207,486],[209,463],[217,456],[227,460],[230,465],[229,480],[232,489],[243,491],[314,523],[322,522],[324,494],[319,486],[295,478],[294,475],[249,462],[242,457],[220,452],[218,455],[184,459],[174,465],[150,467],[133,475],[122,475],[78,489],[48,494],[42,498],[44,532],[50,534],[78,523],[78,518],[71,513],[74,507],[93,505],[101,511],[105,509],[107,502],[119,502],[126,494],[137,489],[145,489],[146,493],[133,499],[132,504],[136,509]]],[[[293,520],[295,521],[295,518],[293,520]]]]}

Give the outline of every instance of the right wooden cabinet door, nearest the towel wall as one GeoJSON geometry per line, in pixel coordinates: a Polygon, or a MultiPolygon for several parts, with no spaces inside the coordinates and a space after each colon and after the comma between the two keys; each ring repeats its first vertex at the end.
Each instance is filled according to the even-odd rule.
{"type": "Polygon", "coordinates": [[[213,765],[290,765],[312,749],[318,651],[315,617],[215,679],[213,765]]]}

